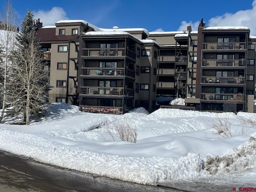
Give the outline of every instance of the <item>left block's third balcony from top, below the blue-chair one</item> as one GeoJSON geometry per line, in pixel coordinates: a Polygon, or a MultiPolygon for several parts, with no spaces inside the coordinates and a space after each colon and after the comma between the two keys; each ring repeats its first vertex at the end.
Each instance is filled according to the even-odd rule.
{"type": "Polygon", "coordinates": [[[84,95],[104,95],[104,96],[134,96],[134,89],[122,87],[92,87],[81,86],[80,94],[84,95]]]}

